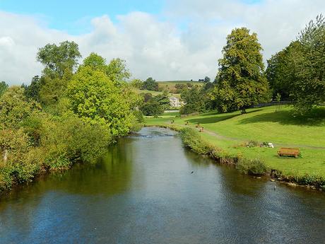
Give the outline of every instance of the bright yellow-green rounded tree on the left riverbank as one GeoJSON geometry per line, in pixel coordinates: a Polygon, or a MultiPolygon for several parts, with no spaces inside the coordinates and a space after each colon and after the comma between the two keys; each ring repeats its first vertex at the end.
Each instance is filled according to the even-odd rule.
{"type": "Polygon", "coordinates": [[[121,89],[104,72],[79,69],[67,88],[71,110],[86,122],[107,126],[113,136],[129,133],[134,116],[121,89]]]}

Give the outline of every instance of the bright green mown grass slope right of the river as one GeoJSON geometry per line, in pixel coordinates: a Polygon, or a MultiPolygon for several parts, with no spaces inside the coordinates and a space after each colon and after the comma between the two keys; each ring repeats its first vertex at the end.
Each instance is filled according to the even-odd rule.
{"type": "Polygon", "coordinates": [[[302,146],[325,147],[325,108],[315,110],[312,118],[294,117],[289,108],[276,107],[248,110],[246,115],[240,112],[227,114],[207,113],[203,115],[179,118],[175,115],[162,118],[148,118],[146,124],[169,124],[189,127],[199,123],[204,127],[202,136],[211,144],[234,154],[247,158],[263,158],[267,165],[281,170],[285,175],[320,175],[325,178],[325,149],[312,149],[302,146]],[[271,141],[278,144],[275,149],[245,148],[239,146],[243,141],[271,141]],[[302,158],[278,158],[280,144],[297,145],[302,158]]]}

